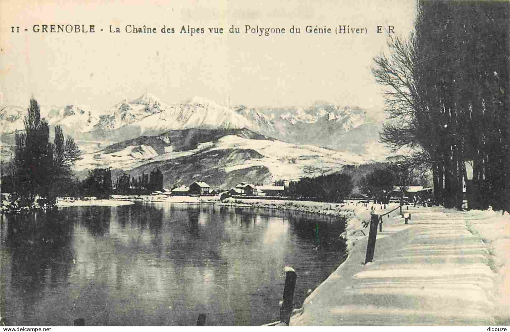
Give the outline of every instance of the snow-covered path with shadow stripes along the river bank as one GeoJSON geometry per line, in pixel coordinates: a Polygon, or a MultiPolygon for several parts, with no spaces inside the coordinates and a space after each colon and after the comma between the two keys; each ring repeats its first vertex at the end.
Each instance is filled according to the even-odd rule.
{"type": "Polygon", "coordinates": [[[363,264],[367,237],[358,240],[291,325],[506,325],[510,307],[502,301],[508,294],[501,293],[508,290],[502,287],[508,266],[501,257],[509,253],[494,253],[491,242],[508,248],[508,214],[404,212],[412,214],[408,225],[398,211],[384,217],[374,261],[363,264]],[[490,234],[477,231],[488,224],[500,226],[490,234]]]}

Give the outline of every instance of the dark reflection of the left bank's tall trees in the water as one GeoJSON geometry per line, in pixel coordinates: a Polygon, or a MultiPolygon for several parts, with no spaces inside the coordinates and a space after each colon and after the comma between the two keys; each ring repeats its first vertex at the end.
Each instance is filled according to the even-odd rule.
{"type": "Polygon", "coordinates": [[[58,212],[41,211],[2,222],[1,314],[7,323],[28,325],[45,293],[68,283],[74,258],[73,224],[62,220],[58,212]],[[15,316],[9,317],[6,310],[15,316]]]}

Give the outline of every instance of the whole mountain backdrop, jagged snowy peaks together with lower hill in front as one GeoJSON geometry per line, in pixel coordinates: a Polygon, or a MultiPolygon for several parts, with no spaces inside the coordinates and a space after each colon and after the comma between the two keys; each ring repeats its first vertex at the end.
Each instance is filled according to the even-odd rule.
{"type": "MultiPolygon", "coordinates": [[[[82,148],[75,164],[82,176],[95,167],[135,173],[161,167],[169,185],[196,178],[223,186],[315,176],[389,155],[377,142],[380,119],[326,102],[250,108],[198,97],[169,104],[144,94],[106,110],[40,107],[50,126],[61,125],[82,148]]],[[[26,113],[0,106],[3,159],[26,113]]]]}

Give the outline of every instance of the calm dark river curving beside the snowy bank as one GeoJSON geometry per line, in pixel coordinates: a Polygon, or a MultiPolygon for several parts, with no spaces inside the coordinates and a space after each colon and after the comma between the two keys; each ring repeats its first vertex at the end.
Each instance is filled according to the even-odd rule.
{"type": "Polygon", "coordinates": [[[137,203],[1,217],[7,325],[261,325],[345,260],[345,222],[311,213],[137,203]]]}

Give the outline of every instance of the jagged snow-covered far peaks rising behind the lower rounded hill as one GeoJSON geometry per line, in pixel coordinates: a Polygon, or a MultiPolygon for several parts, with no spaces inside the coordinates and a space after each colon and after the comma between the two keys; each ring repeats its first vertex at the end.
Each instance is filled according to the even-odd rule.
{"type": "MultiPolygon", "coordinates": [[[[26,112],[24,107],[0,106],[2,134],[22,130],[26,112]]],[[[249,108],[228,107],[199,97],[169,104],[151,94],[123,100],[106,110],[81,105],[41,105],[41,116],[50,125],[61,125],[75,140],[120,142],[176,129],[248,128],[289,143],[356,153],[364,153],[367,144],[376,143],[380,127],[380,121],[362,108],[325,102],[308,108],[249,108]],[[365,130],[355,137],[351,134],[351,143],[347,144],[343,136],[362,126],[365,130]]]]}

